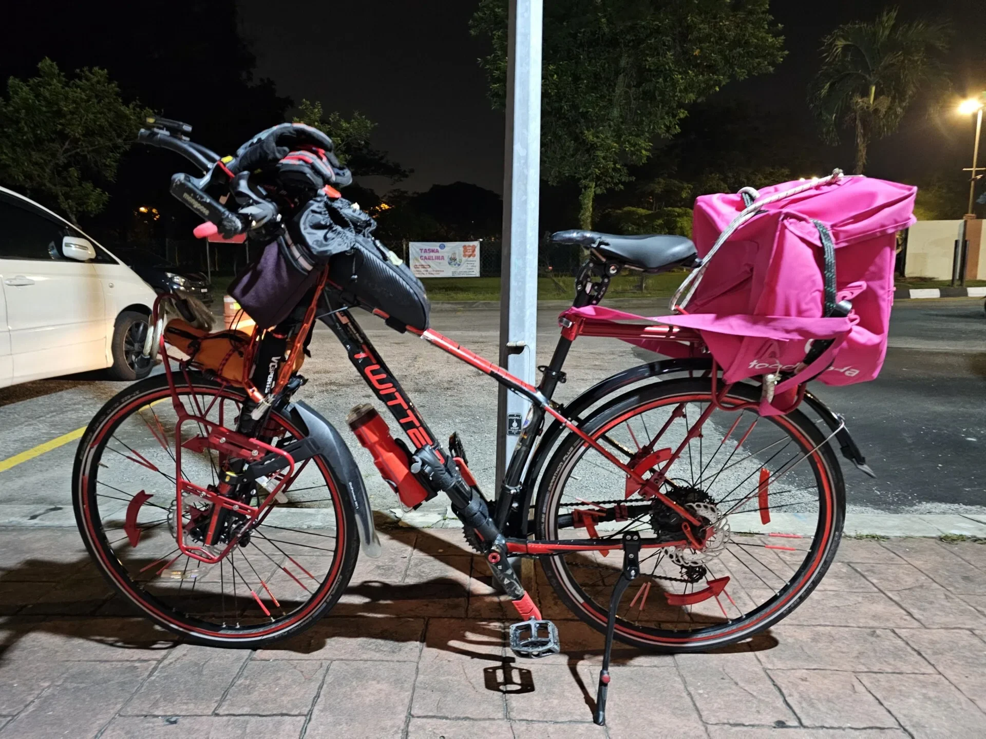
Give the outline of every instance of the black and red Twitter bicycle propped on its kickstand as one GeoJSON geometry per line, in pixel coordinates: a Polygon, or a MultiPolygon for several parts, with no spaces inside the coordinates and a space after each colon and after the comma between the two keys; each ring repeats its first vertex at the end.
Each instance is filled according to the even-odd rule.
{"type": "MultiPolygon", "coordinates": [[[[220,176],[222,161],[162,125],[142,139],[202,168],[198,184],[182,175],[180,186],[208,198],[213,224],[246,232],[245,219],[199,186],[220,176]]],[[[656,273],[695,260],[690,241],[675,236],[555,237],[589,245],[574,308],[599,303],[624,268],[656,273]]],[[[865,459],[844,421],[804,387],[799,400],[824,432],[798,409],[760,416],[761,387],[724,384],[687,329],[566,311],[535,387],[437,331],[404,326],[530,402],[488,501],[458,435],[447,447],[436,440],[328,274],[321,268],[279,333],[248,337],[239,381],[169,358],[164,306],[180,299],[159,298],[146,353],[163,355],[164,373],[108,401],[80,440],[72,491],[83,540],[113,587],[162,627],[199,643],[259,648],[325,615],[361,548],[379,555],[351,452],[314,409],[292,400],[315,320],[411,442],[390,438],[372,408],[354,409],[350,426],[388,482],[410,504],[445,493],[466,542],[509,595],[522,619],[510,628],[513,650],[536,657],[560,648],[514,558],[538,559],[561,601],[604,634],[600,724],[614,638],[674,651],[750,638],[797,608],[832,562],[845,485],[831,439],[861,468],[865,459]],[[618,372],[559,405],[552,396],[580,336],[664,342],[687,356],[618,372]]]]}

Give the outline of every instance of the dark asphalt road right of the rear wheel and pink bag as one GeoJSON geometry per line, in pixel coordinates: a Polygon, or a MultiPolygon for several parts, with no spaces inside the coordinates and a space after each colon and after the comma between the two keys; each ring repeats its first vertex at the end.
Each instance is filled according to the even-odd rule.
{"type": "Polygon", "coordinates": [[[851,504],[925,512],[986,505],[982,300],[897,302],[880,377],[811,389],[846,417],[879,475],[847,471],[851,504]]]}

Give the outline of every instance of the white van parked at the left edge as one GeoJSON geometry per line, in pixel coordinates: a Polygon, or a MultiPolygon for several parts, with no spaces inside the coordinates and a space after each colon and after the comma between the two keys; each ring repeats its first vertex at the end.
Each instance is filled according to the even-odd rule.
{"type": "Polygon", "coordinates": [[[85,370],[147,376],[155,293],[94,239],[0,187],[0,387],[85,370]]]}

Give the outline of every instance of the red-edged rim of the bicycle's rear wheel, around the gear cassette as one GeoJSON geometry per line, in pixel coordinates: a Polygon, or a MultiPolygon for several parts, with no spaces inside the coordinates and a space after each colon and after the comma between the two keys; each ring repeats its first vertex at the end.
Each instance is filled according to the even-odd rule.
{"type": "MultiPolygon", "coordinates": [[[[628,401],[600,416],[590,435],[603,439],[624,460],[639,454],[641,447],[646,450],[662,430],[664,436],[654,443],[655,450],[675,449],[690,428],[686,424],[694,424],[708,408],[708,401],[707,392],[683,392],[643,403],[628,401]],[[666,427],[675,408],[682,415],[666,427]]],[[[712,411],[703,434],[691,439],[669,468],[673,486],[664,484],[661,490],[679,502],[691,500],[689,509],[705,513],[707,520],[715,520],[718,513],[720,542],[710,548],[718,551],[641,552],[641,576],[620,600],[617,632],[666,644],[738,638],[768,623],[798,593],[813,586],[833,539],[835,487],[820,449],[814,447],[787,417],[712,411]],[[765,506],[760,504],[761,488],[765,506]],[[769,515],[766,523],[760,517],[761,507],[769,515]],[[687,571],[681,561],[694,562],[704,572],[698,577],[699,571],[687,571]]],[[[639,471],[647,477],[663,463],[650,466],[641,460],[641,465],[639,471]]],[[[626,475],[588,445],[572,446],[549,485],[545,535],[589,537],[588,528],[574,527],[565,514],[575,509],[601,512],[623,499],[629,485],[626,475]],[[600,496],[599,491],[608,495],[600,496]]],[[[634,504],[640,510],[643,502],[639,493],[626,499],[631,506],[628,510],[634,504]]],[[[667,510],[660,505],[655,509],[667,510]]],[[[651,515],[645,512],[636,521],[628,516],[618,525],[599,524],[598,535],[620,538],[624,530],[640,530],[644,537],[653,536],[651,515]]],[[[667,527],[664,518],[659,526],[667,527]]],[[[549,567],[569,600],[602,625],[621,564],[619,552],[607,558],[579,553],[552,558],[549,567]]]]}

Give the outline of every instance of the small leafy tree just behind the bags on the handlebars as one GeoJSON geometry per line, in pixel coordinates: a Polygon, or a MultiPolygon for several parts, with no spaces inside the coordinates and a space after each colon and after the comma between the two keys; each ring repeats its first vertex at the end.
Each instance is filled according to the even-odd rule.
{"type": "Polygon", "coordinates": [[[354,111],[348,120],[335,110],[326,116],[320,102],[303,100],[295,122],[308,123],[332,139],[339,161],[358,176],[383,176],[397,182],[411,171],[387,159],[387,152],[370,146],[370,134],[377,124],[362,113],[354,111]]]}

